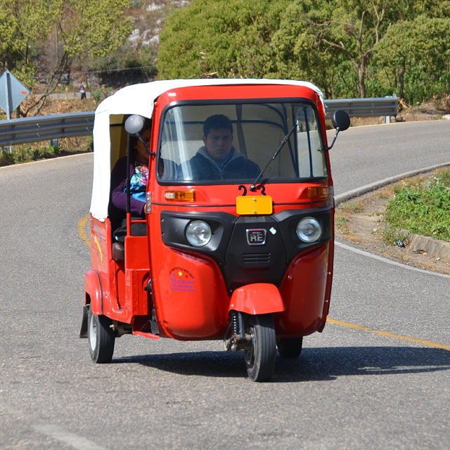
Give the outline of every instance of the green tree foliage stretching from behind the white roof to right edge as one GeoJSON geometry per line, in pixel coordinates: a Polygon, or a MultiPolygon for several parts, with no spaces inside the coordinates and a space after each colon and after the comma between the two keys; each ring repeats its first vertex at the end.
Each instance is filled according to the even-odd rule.
{"type": "Polygon", "coordinates": [[[334,98],[449,92],[449,19],[449,0],[193,0],[163,29],[159,77],[308,79],[334,98]]]}

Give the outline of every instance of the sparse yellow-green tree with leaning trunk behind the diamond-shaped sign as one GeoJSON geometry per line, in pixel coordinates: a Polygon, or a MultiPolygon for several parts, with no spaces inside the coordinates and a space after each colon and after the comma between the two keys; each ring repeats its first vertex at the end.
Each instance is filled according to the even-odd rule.
{"type": "Polygon", "coordinates": [[[74,58],[105,56],[127,39],[126,8],[129,0],[0,0],[1,66],[31,88],[37,53],[48,39],[57,49],[44,95],[20,115],[39,113],[74,58]]]}

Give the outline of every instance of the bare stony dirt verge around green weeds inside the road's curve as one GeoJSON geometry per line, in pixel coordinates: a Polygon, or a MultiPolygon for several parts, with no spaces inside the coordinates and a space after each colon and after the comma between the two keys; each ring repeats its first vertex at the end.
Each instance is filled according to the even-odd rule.
{"type": "MultiPolygon", "coordinates": [[[[421,177],[433,176],[423,174],[421,177]]],[[[340,240],[348,240],[361,250],[391,257],[405,264],[450,275],[450,251],[445,255],[431,250],[430,245],[409,240],[387,243],[383,236],[383,213],[387,202],[394,196],[394,185],[342,203],[336,208],[335,234],[340,240]]],[[[439,243],[439,242],[438,242],[439,243]]],[[[439,243],[442,244],[442,243],[439,243]]],[[[444,245],[444,244],[442,244],[444,245]]]]}

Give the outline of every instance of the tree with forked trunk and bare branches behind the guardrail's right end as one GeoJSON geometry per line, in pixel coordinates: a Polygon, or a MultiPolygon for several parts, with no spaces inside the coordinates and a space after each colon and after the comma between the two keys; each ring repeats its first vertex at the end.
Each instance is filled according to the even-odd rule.
{"type": "Polygon", "coordinates": [[[375,47],[392,22],[407,14],[409,9],[406,0],[317,0],[314,3],[296,0],[286,11],[278,31],[278,42],[284,36],[294,37],[290,64],[302,68],[311,64],[295,51],[301,46],[305,52],[316,53],[315,62],[328,78],[331,67],[343,70],[346,78],[352,73],[351,77],[356,76],[358,80],[359,95],[364,98],[366,72],[375,47]],[[286,20],[288,16],[290,19],[286,20]],[[302,32],[293,32],[293,26],[301,27],[302,32]]]}

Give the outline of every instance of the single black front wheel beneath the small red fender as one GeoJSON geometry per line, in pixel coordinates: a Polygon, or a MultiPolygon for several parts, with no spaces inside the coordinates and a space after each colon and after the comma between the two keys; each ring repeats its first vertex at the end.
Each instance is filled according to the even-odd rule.
{"type": "Polygon", "coordinates": [[[245,327],[252,344],[245,350],[248,377],[253,381],[269,381],[274,373],[276,338],[274,319],[271,314],[248,316],[245,327]]]}

